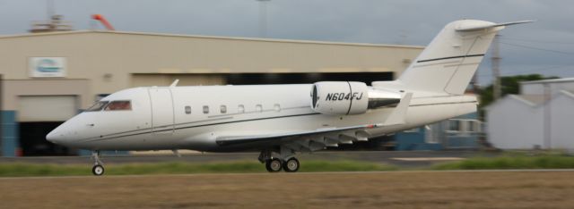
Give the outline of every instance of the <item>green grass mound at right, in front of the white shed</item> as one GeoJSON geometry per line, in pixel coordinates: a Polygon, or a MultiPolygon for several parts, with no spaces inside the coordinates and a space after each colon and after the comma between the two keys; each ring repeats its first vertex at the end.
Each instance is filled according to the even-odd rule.
{"type": "Polygon", "coordinates": [[[459,162],[439,163],[434,170],[487,169],[574,169],[574,156],[563,154],[526,155],[509,153],[498,157],[474,157],[459,162]]]}

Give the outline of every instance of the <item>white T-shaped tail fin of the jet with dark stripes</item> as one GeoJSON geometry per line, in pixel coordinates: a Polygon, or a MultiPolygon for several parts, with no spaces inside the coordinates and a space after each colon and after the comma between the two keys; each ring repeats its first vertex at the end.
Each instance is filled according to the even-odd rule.
{"type": "Polygon", "coordinates": [[[526,22],[450,22],[396,82],[418,91],[462,95],[496,33],[526,22]]]}

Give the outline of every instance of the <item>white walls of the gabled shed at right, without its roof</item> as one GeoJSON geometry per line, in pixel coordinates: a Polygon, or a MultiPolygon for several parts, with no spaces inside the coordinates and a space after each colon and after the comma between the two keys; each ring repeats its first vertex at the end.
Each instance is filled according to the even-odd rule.
{"type": "Polygon", "coordinates": [[[516,96],[505,96],[487,110],[488,139],[501,149],[574,149],[574,95],[561,92],[545,104],[533,106],[516,96]],[[550,140],[544,119],[550,108],[550,140]]]}

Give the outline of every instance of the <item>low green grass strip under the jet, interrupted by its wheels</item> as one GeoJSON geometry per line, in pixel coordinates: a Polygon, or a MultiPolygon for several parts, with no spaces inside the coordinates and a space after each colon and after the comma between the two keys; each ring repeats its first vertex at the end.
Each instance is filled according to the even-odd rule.
{"type": "MultiPolygon", "coordinates": [[[[300,171],[392,171],[396,167],[354,161],[306,161],[300,171]]],[[[266,172],[257,162],[130,163],[106,165],[105,175],[266,172]]],[[[0,177],[91,175],[90,164],[1,163],[0,177]]]]}

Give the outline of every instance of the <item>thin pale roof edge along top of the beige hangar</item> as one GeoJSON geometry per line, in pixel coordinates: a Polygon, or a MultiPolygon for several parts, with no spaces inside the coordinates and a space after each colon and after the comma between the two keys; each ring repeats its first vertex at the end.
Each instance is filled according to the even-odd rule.
{"type": "Polygon", "coordinates": [[[408,45],[383,45],[383,44],[368,44],[368,43],[346,43],[346,42],[310,41],[310,40],[275,39],[275,38],[239,38],[239,37],[198,36],[198,35],[183,35],[183,34],[117,31],[117,30],[113,30],[113,31],[112,30],[72,30],[72,31],[61,31],[61,32],[28,33],[28,34],[0,36],[0,39],[3,39],[3,38],[27,38],[27,37],[39,37],[39,36],[61,36],[61,35],[86,34],[86,33],[159,36],[159,37],[174,37],[174,38],[207,38],[207,39],[226,39],[226,40],[247,40],[247,41],[261,41],[261,42],[300,43],[300,44],[339,45],[339,46],[377,46],[377,47],[418,48],[418,49],[424,48],[424,46],[408,46],[408,45]]]}

